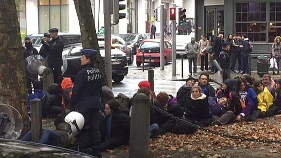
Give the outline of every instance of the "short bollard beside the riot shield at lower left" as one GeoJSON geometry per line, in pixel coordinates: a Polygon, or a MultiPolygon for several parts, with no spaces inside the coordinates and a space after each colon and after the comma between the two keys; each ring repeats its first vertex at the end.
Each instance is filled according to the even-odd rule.
{"type": "Polygon", "coordinates": [[[31,112],[31,141],[39,142],[42,136],[41,99],[34,98],[30,101],[30,112],[31,112]]]}

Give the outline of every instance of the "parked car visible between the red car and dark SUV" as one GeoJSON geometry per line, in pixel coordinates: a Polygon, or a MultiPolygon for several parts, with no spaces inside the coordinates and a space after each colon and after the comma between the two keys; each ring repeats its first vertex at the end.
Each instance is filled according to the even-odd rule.
{"type": "Polygon", "coordinates": [[[127,43],[127,45],[132,48],[133,54],[136,54],[139,45],[142,44],[142,41],[148,39],[148,36],[145,33],[115,35],[121,37],[127,43]]]}

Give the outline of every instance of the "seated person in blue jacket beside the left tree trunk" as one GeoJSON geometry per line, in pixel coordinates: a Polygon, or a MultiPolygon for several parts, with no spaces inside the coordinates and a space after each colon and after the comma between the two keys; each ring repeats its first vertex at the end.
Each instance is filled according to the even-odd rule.
{"type": "Polygon", "coordinates": [[[28,95],[27,98],[27,110],[30,111],[30,100],[38,98],[43,100],[43,97],[46,96],[46,93],[42,90],[42,83],[40,81],[33,81],[34,93],[28,95]]]}

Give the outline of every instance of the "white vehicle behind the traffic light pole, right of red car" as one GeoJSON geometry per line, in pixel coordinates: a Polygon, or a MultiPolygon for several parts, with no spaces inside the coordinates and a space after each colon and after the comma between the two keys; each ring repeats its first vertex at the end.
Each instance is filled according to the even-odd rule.
{"type": "MultiPolygon", "coordinates": [[[[185,46],[191,42],[192,35],[176,35],[175,36],[175,50],[176,50],[176,56],[179,57],[180,55],[183,55],[187,58],[187,54],[184,51],[185,46]]],[[[193,36],[194,37],[194,36],[193,36]]],[[[172,39],[170,40],[170,43],[172,44],[172,39]]]]}

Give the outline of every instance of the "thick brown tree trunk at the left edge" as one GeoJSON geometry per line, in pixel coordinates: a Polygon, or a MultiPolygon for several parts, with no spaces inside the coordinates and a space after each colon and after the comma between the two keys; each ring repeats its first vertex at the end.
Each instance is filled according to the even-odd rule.
{"type": "Polygon", "coordinates": [[[30,129],[26,98],[23,47],[15,0],[1,0],[0,102],[15,107],[22,114],[22,135],[30,129]]]}

